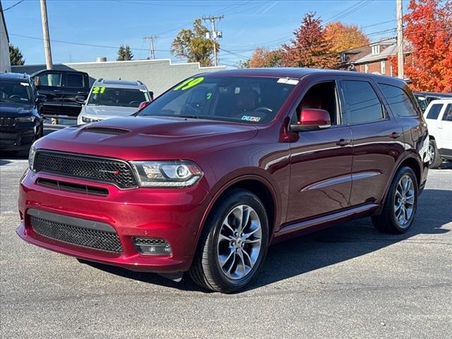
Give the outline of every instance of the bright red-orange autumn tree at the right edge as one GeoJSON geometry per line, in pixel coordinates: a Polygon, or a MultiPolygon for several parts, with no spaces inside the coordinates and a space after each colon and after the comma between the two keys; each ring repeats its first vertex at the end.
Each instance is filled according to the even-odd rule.
{"type": "MultiPolygon", "coordinates": [[[[404,37],[412,52],[405,57],[405,78],[412,90],[452,91],[452,0],[410,0],[403,16],[404,37]]],[[[397,71],[397,57],[391,58],[397,71]]]]}

